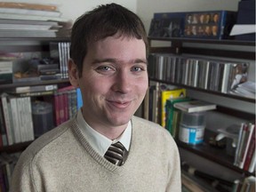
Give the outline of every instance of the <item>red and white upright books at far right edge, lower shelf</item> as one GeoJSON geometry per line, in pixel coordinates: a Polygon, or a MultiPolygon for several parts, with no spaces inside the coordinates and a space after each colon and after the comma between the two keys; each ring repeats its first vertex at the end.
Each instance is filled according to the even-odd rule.
{"type": "Polygon", "coordinates": [[[255,124],[242,123],[236,145],[234,164],[247,172],[255,172],[255,124]]]}

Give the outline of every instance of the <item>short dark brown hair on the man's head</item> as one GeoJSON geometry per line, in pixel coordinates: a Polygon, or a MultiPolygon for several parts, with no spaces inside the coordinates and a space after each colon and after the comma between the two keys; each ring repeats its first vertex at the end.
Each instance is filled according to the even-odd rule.
{"type": "Polygon", "coordinates": [[[139,16],[119,4],[105,4],[85,12],[74,23],[71,33],[70,58],[83,70],[88,45],[116,34],[142,39],[148,55],[148,37],[139,16]]]}

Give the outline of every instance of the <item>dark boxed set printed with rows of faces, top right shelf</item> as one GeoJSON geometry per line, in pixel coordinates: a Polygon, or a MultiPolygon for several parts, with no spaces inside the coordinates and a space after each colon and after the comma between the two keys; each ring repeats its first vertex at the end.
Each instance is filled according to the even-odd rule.
{"type": "Polygon", "coordinates": [[[236,12],[156,12],[148,36],[229,39],[236,12]]]}

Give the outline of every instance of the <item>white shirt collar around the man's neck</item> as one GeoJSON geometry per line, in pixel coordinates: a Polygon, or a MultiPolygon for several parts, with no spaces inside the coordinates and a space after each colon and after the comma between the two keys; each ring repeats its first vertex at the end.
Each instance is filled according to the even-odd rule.
{"type": "Polygon", "coordinates": [[[84,116],[82,114],[82,109],[79,109],[76,119],[78,126],[84,133],[85,139],[88,140],[92,148],[95,151],[97,151],[100,154],[100,156],[104,156],[109,146],[112,143],[116,143],[117,141],[121,142],[124,145],[124,148],[126,148],[126,150],[129,151],[132,138],[131,121],[129,121],[126,129],[119,138],[117,138],[116,140],[109,140],[107,137],[100,134],[100,132],[96,132],[94,129],[92,129],[92,127],[89,124],[85,122],[84,116]]]}

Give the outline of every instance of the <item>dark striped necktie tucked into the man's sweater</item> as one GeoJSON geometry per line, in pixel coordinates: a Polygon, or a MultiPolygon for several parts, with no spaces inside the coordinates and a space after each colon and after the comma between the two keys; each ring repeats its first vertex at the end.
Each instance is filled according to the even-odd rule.
{"type": "Polygon", "coordinates": [[[118,141],[111,144],[104,157],[112,164],[121,166],[122,164],[124,164],[127,158],[127,154],[128,151],[124,148],[122,143],[118,141]]]}

